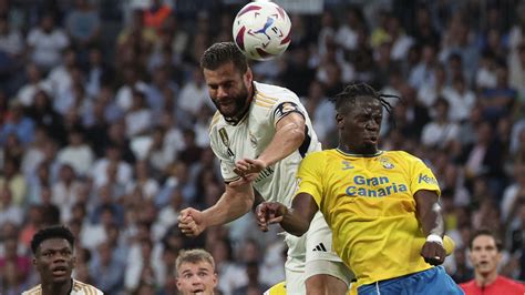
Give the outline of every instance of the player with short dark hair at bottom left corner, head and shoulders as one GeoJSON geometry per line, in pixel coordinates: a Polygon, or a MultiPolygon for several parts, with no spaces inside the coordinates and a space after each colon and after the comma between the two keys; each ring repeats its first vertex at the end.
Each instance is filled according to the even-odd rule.
{"type": "Polygon", "coordinates": [[[37,285],[22,295],[101,295],[102,291],[71,277],[75,264],[74,236],[64,226],[40,230],[31,241],[33,265],[40,275],[37,285]]]}

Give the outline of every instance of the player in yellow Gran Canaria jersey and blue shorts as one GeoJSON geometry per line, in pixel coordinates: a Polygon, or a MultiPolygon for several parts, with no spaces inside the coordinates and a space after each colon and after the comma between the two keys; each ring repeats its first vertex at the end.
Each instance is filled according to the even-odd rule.
{"type": "Polygon", "coordinates": [[[319,208],[333,233],[333,248],[353,271],[361,294],[463,294],[441,265],[443,216],[432,171],[402,151],[380,151],[382,106],[367,84],[351,84],[334,99],[338,149],[301,162],[291,207],[257,207],[262,231],[280,223],[300,236],[319,208]]]}

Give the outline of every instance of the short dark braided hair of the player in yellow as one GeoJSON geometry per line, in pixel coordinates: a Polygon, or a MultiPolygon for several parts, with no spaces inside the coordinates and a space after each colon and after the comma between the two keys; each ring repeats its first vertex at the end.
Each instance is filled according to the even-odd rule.
{"type": "Polygon", "coordinates": [[[371,98],[379,100],[381,105],[390,113],[392,105],[384,100],[384,98],[397,98],[397,95],[383,94],[375,91],[371,85],[367,83],[351,83],[344,88],[344,90],[337,94],[331,101],[336,104],[336,110],[341,112],[347,103],[356,103],[357,98],[371,98]]]}

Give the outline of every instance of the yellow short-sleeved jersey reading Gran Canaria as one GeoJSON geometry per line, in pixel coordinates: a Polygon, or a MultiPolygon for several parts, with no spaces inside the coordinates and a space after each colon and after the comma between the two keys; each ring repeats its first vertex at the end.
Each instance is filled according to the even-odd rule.
{"type": "Polygon", "coordinates": [[[313,196],[358,286],[431,267],[420,255],[425,236],[413,195],[441,192],[420,159],[401,151],[363,156],[327,150],[307,155],[297,177],[296,195],[313,196]]]}

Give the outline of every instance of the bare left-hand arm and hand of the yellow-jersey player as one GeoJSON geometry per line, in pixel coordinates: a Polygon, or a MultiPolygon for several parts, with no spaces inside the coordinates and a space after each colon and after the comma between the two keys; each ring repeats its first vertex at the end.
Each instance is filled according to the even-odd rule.
{"type": "Polygon", "coordinates": [[[256,210],[257,224],[261,231],[267,232],[269,224],[279,223],[288,233],[301,236],[310,227],[310,222],[318,210],[310,194],[300,193],[294,199],[291,208],[278,202],[259,204],[256,210]]]}

